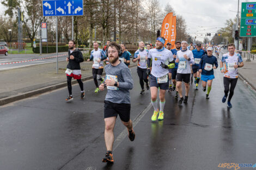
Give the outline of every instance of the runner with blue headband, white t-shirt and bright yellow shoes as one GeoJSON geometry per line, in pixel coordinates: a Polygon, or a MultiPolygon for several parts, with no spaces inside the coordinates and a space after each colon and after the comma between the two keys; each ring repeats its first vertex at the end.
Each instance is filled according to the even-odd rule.
{"type": "Polygon", "coordinates": [[[150,78],[150,91],[151,91],[151,103],[154,107],[154,114],[151,117],[152,121],[157,119],[163,120],[163,108],[166,103],[165,93],[168,89],[168,68],[174,68],[173,54],[168,49],[164,48],[165,39],[162,36],[156,39],[156,48],[150,49],[148,55],[148,70],[150,72],[150,66],[152,66],[151,78],[150,78]],[[160,89],[160,112],[157,108],[157,91],[160,89]]]}

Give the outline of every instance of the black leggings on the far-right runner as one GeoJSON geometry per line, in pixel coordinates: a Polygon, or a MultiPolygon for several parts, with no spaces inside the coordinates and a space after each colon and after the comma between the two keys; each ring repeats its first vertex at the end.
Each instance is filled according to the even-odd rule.
{"type": "Polygon", "coordinates": [[[225,93],[225,97],[228,97],[228,102],[230,102],[231,98],[234,95],[234,90],[235,90],[235,86],[237,83],[237,79],[238,78],[227,78],[224,77],[223,78],[223,83],[224,83],[224,93],[225,93]],[[229,88],[229,84],[230,84],[230,88],[229,88]],[[229,91],[229,96],[228,96],[228,91],[229,91]]]}

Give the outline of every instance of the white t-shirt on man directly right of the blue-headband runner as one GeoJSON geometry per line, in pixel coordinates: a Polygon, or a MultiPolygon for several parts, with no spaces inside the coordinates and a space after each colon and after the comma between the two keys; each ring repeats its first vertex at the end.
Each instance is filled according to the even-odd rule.
{"type": "Polygon", "coordinates": [[[177,73],[181,74],[188,74],[191,73],[190,69],[190,64],[194,64],[194,56],[192,51],[186,50],[185,52],[182,52],[181,50],[177,52],[177,59],[179,59],[179,65],[178,65],[178,70],[177,73]],[[187,54],[188,58],[191,60],[188,61],[187,59],[184,58],[184,55],[187,54]]]}

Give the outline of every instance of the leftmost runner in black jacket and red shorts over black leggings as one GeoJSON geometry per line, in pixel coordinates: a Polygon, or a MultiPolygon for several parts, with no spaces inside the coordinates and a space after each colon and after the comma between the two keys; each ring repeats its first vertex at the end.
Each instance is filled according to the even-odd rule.
{"type": "Polygon", "coordinates": [[[66,98],[66,101],[73,99],[72,96],[72,77],[77,80],[80,89],[81,89],[81,99],[84,99],[85,92],[83,89],[83,82],[81,80],[81,67],[80,62],[83,62],[83,55],[78,48],[76,48],[76,42],[74,40],[69,41],[69,56],[66,58],[66,61],[69,61],[68,66],[66,66],[66,81],[68,83],[69,96],[66,98]]]}

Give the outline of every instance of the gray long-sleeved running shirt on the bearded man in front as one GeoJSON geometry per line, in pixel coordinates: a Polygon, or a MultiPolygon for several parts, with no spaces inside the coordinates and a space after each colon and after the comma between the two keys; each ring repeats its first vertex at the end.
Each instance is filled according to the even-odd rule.
{"type": "Polygon", "coordinates": [[[108,86],[107,87],[107,95],[105,100],[108,100],[112,103],[131,103],[130,92],[133,88],[133,79],[131,76],[130,69],[124,64],[124,62],[120,62],[117,66],[112,66],[108,64],[105,66],[106,79],[112,77],[115,81],[119,82],[119,87],[108,86]]]}

